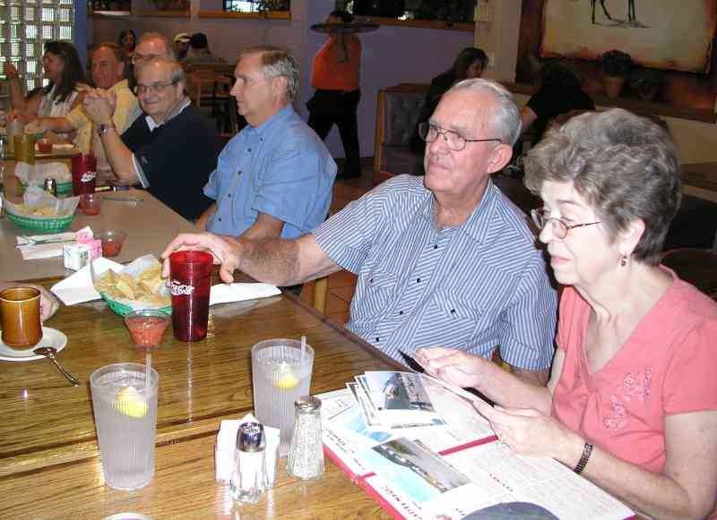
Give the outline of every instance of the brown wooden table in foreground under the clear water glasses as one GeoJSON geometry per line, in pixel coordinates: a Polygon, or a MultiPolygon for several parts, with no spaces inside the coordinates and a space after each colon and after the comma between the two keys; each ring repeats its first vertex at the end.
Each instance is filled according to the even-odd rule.
{"type": "MultiPolygon", "coordinates": [[[[44,280],[49,286],[56,279],[44,280]]],[[[344,388],[355,375],[395,362],[293,295],[213,306],[206,340],[183,343],[167,330],[152,354],[160,374],[155,475],[143,490],[104,485],[88,379],[113,362],[143,362],[123,320],[105,303],[62,307],[47,327],[68,345],[58,354],[80,379],[72,387],[48,360],[0,362],[0,517],[101,518],[133,511],[160,518],[367,518],[389,516],[333,462],[317,481],[286,473],[258,504],[235,505],[214,481],[214,441],[223,419],[253,407],[250,349],[271,337],[315,349],[311,393],[344,388]]]]}

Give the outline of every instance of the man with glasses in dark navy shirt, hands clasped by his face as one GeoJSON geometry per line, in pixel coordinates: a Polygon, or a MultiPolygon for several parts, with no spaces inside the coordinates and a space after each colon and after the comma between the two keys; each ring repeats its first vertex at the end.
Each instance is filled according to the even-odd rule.
{"type": "Polygon", "coordinates": [[[212,200],[204,184],[217,166],[222,141],[216,126],[186,97],[186,77],[168,55],[135,63],[134,91],[144,111],[120,135],[112,124],[114,98],[91,92],[84,107],[115,175],[142,184],[152,195],[187,220],[195,220],[212,200]]]}

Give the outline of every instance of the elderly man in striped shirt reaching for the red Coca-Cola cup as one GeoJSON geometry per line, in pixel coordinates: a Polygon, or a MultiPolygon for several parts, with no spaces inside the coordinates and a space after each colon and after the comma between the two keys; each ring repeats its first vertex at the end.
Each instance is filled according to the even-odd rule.
{"type": "Polygon", "coordinates": [[[385,354],[443,345],[489,358],[500,347],[517,375],[544,384],[556,294],[527,219],[490,180],[520,128],[497,82],[461,81],[419,125],[425,177],[394,177],[296,240],[181,234],[163,256],[211,251],[225,281],[241,269],[278,286],[348,269],[358,284],[347,327],[385,354]]]}

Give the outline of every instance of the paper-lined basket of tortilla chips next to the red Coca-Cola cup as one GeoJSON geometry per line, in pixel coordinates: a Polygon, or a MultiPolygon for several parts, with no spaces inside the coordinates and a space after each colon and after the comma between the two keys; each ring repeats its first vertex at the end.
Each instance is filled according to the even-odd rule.
{"type": "Polygon", "coordinates": [[[160,276],[161,264],[153,255],[120,267],[97,272],[93,263],[91,268],[95,289],[112,311],[120,316],[143,309],[172,313],[167,284],[160,276]]]}

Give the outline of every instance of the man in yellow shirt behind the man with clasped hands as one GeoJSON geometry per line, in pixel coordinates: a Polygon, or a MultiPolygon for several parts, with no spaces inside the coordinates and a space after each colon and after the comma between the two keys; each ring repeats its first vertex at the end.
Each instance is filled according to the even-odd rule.
{"type": "MultiPolygon", "coordinates": [[[[116,99],[115,111],[112,115],[112,122],[117,127],[117,132],[125,132],[134,120],[142,114],[142,109],[137,103],[132,90],[129,90],[125,80],[125,50],[116,43],[105,42],[92,50],[91,78],[97,89],[108,90],[116,99]]],[[[39,123],[43,129],[52,132],[73,132],[77,134],[74,138],[75,146],[82,153],[92,153],[97,157],[98,173],[107,174],[111,167],[105,158],[105,150],[102,141],[99,140],[97,132],[92,132],[92,122],[79,106],[65,117],[42,117],[39,123]]]]}

